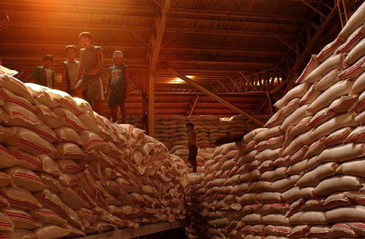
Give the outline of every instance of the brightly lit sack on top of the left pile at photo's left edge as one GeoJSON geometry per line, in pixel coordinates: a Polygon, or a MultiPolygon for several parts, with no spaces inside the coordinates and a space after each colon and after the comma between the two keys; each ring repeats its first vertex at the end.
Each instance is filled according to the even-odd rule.
{"type": "Polygon", "coordinates": [[[22,83],[22,81],[19,81],[17,78],[13,76],[1,75],[0,87],[4,87],[7,90],[10,90],[12,93],[24,97],[32,104],[36,103],[32,93],[28,90],[27,86],[25,86],[25,84],[22,83]]]}

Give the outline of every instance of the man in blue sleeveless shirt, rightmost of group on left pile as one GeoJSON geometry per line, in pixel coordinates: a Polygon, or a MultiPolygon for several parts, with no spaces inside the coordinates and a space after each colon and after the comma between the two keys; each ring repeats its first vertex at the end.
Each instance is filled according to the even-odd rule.
{"type": "Polygon", "coordinates": [[[125,99],[127,97],[129,73],[128,66],[124,64],[123,53],[116,50],[113,53],[114,65],[109,68],[109,81],[106,86],[105,95],[109,95],[109,107],[111,118],[116,123],[118,119],[118,108],[122,113],[122,123],[125,123],[125,99]]]}

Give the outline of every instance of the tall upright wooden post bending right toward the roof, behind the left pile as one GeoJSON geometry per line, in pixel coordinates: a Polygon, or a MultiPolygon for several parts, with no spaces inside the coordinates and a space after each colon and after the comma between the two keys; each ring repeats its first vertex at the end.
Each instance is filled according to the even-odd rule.
{"type": "Polygon", "coordinates": [[[160,16],[156,19],[156,36],[151,36],[154,37],[154,41],[152,41],[154,43],[153,49],[149,57],[149,135],[151,137],[155,135],[155,71],[170,4],[171,0],[163,1],[160,16]]]}

